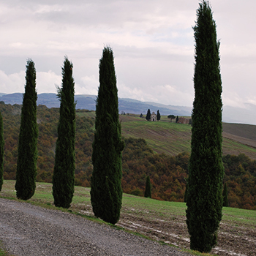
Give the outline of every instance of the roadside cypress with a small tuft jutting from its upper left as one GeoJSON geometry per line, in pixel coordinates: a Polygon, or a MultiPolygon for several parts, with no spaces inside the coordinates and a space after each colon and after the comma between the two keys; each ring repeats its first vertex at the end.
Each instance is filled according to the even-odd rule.
{"type": "Polygon", "coordinates": [[[58,91],[61,105],[53,170],[54,204],[63,208],[70,207],[75,185],[75,82],[72,70],[73,64],[65,56],[62,87],[58,91]]]}

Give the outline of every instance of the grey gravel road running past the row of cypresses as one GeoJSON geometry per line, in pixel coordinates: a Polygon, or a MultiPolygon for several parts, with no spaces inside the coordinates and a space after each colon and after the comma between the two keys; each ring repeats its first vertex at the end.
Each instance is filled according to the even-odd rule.
{"type": "Polygon", "coordinates": [[[0,241],[15,256],[172,255],[184,252],[75,214],[0,198],[0,241]]]}

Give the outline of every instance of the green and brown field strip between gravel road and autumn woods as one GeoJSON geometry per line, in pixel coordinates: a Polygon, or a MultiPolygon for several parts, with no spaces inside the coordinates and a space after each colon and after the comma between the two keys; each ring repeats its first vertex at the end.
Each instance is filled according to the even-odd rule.
{"type": "MultiPolygon", "coordinates": [[[[0,196],[17,200],[14,184],[15,181],[4,180],[0,196]]],[[[52,184],[37,182],[36,192],[28,200],[28,203],[56,209],[53,206],[52,184]]],[[[90,202],[90,189],[86,187],[75,187],[71,207],[68,210],[59,209],[103,223],[94,217],[90,202]]],[[[114,227],[200,255],[197,252],[189,251],[185,210],[185,203],[166,202],[124,194],[120,220],[114,227]]],[[[217,255],[254,255],[255,226],[255,211],[223,208],[218,245],[212,252],[217,255]]]]}

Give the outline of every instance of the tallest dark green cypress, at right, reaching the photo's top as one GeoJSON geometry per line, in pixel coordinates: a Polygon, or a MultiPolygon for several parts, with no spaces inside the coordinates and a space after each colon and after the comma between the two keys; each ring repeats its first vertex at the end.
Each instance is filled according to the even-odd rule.
{"type": "Polygon", "coordinates": [[[208,1],[197,10],[195,100],[187,192],[190,248],[210,252],[222,219],[222,81],[216,23],[208,1]]]}

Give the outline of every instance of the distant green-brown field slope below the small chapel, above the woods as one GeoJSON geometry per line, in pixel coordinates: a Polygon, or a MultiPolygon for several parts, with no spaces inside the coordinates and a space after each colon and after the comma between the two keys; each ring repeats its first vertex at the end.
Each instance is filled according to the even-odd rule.
{"type": "MultiPolygon", "coordinates": [[[[94,112],[79,113],[94,117],[94,112]]],[[[190,151],[191,126],[170,123],[167,116],[159,122],[148,122],[139,116],[120,116],[122,136],[144,138],[155,152],[177,155],[190,151]]],[[[256,126],[249,124],[223,124],[223,154],[244,153],[256,159],[256,126]]]]}

